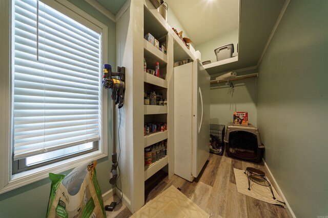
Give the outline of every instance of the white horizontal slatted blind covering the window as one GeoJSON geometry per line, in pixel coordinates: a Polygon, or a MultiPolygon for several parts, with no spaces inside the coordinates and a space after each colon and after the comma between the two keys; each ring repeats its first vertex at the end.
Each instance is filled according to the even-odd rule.
{"type": "Polygon", "coordinates": [[[36,0],[13,16],[14,160],[99,140],[100,31],[36,0]]]}

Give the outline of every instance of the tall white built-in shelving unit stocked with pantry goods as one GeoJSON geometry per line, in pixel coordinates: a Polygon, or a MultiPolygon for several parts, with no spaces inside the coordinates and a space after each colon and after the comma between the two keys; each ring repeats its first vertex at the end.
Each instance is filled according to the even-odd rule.
{"type": "Polygon", "coordinates": [[[174,174],[173,63],[195,58],[148,0],[128,1],[118,15],[116,65],[126,67],[127,84],[125,105],[121,109],[121,128],[124,131],[121,135],[119,164],[122,177],[119,185],[123,192],[122,201],[133,213],[145,204],[145,180],[160,169],[167,170],[169,178],[174,174]],[[166,42],[167,54],[144,39],[147,33],[160,43],[166,42]],[[159,77],[144,72],[144,58],[149,69],[154,69],[155,63],[159,62],[159,77]],[[162,99],[167,99],[167,106],[144,105],[144,91],[162,95],[162,99]],[[144,136],[145,122],[167,123],[168,130],[144,136]],[[144,149],[162,140],[167,140],[167,156],[145,166],[144,149]]]}

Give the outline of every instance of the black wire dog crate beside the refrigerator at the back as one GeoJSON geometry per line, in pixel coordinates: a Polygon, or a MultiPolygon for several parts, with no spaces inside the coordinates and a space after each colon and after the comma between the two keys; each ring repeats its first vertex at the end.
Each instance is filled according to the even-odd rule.
{"type": "Polygon", "coordinates": [[[223,155],[224,151],[224,125],[210,124],[210,152],[223,155]]]}

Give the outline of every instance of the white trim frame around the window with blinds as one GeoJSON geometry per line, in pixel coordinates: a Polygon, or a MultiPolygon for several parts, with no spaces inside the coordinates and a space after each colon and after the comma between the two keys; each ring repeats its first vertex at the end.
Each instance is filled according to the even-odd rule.
{"type": "MultiPolygon", "coordinates": [[[[59,12],[75,19],[81,24],[90,27],[92,25],[101,29],[101,63],[108,63],[108,27],[101,23],[88,13],[79,9],[66,0],[40,0],[59,12]]],[[[49,173],[61,173],[68,171],[82,162],[90,162],[95,159],[108,157],[108,94],[107,91],[101,90],[101,123],[100,140],[98,150],[87,154],[81,154],[55,163],[30,169],[17,174],[12,173],[12,126],[11,126],[11,109],[12,109],[12,92],[11,92],[11,28],[12,28],[12,9],[13,1],[0,1],[0,23],[5,27],[0,34],[0,64],[3,69],[0,71],[0,194],[6,191],[48,178],[49,173]],[[8,55],[9,54],[9,55],[8,55]]],[[[100,75],[101,76],[101,75],[100,75]]]]}

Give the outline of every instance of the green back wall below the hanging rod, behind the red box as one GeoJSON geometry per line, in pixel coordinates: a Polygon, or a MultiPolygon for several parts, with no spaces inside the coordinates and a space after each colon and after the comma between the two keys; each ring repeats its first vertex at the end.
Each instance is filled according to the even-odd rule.
{"type": "Polygon", "coordinates": [[[234,111],[246,111],[249,123],[256,126],[256,78],[233,81],[232,92],[230,86],[220,83],[211,85],[210,123],[226,125],[233,121],[234,111]]]}

